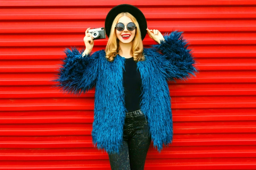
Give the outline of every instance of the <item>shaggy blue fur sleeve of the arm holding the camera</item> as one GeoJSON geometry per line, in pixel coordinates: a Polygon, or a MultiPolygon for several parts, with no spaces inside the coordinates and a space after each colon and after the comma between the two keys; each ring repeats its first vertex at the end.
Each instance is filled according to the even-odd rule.
{"type": "Polygon", "coordinates": [[[99,51],[82,56],[83,49],[79,52],[76,47],[65,49],[65,58],[55,76],[55,87],[61,88],[64,93],[80,95],[88,92],[96,85],[97,65],[99,51]]]}

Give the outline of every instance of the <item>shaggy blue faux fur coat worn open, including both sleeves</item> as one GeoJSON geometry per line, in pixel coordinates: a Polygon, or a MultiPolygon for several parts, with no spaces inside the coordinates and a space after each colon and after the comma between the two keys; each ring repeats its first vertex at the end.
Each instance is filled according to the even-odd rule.
{"type": "MultiPolygon", "coordinates": [[[[148,120],[154,148],[160,152],[172,143],[173,122],[171,98],[167,81],[187,80],[199,69],[183,32],[172,31],[164,41],[143,48],[145,61],[137,62],[142,78],[141,111],[148,120]],[[189,74],[190,73],[190,74],[189,74]]],[[[82,57],[77,48],[66,48],[63,67],[53,81],[63,92],[80,95],[95,87],[92,143],[106,152],[119,152],[125,120],[123,69],[125,58],[117,54],[113,62],[106,59],[105,50],[82,57]]]]}

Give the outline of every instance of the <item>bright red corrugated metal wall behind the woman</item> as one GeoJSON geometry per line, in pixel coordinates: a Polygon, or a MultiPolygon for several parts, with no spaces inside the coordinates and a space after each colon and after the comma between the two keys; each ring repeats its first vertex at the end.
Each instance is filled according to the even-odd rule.
{"type": "Polygon", "coordinates": [[[71,97],[50,80],[65,47],[81,49],[86,29],[104,27],[122,3],[141,9],[149,29],[184,31],[200,63],[196,78],[169,82],[174,141],[161,154],[151,144],[145,169],[256,169],[252,0],[0,0],[0,169],[110,169],[92,147],[94,91],[71,97]]]}

